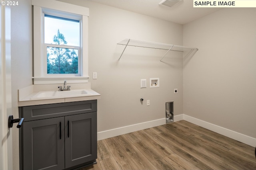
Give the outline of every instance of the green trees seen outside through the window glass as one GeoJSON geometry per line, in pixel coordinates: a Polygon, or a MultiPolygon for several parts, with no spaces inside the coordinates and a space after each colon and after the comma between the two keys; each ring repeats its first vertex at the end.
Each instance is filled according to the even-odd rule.
{"type": "MultiPolygon", "coordinates": [[[[54,35],[56,45],[65,45],[67,41],[60,30],[54,35]]],[[[78,74],[78,50],[60,47],[47,47],[47,74],[78,74]]]]}

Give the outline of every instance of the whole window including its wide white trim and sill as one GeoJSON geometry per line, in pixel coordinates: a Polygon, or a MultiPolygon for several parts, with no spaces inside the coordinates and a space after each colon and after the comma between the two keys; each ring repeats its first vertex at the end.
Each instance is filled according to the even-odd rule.
{"type": "Polygon", "coordinates": [[[34,84],[88,82],[88,8],[32,0],[34,84]]]}

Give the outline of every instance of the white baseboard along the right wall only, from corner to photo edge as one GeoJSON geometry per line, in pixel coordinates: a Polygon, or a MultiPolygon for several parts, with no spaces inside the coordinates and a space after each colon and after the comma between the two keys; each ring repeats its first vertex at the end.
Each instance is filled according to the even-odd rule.
{"type": "Polygon", "coordinates": [[[245,143],[247,145],[250,145],[252,147],[255,147],[256,145],[256,139],[253,137],[249,137],[247,135],[243,135],[241,133],[232,131],[230,129],[226,129],[224,127],[220,127],[218,125],[214,125],[212,123],[206,122],[206,121],[202,121],[200,119],[196,119],[194,117],[188,116],[188,115],[183,115],[184,120],[193,123],[195,125],[204,127],[206,129],[209,129],[210,131],[214,131],[216,133],[219,133],[221,135],[224,135],[226,137],[230,137],[231,139],[234,139],[236,141],[245,143]]]}

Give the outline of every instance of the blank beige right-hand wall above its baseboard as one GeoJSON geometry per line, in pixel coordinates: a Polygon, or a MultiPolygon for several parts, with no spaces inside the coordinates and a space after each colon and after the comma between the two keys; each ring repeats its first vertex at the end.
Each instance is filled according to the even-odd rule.
{"type": "Polygon", "coordinates": [[[226,8],[184,25],[184,114],[256,137],[256,9],[226,8]]]}

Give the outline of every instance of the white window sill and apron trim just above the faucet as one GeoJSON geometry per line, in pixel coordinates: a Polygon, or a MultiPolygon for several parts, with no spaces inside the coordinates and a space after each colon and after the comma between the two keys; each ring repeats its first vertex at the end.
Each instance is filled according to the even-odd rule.
{"type": "Polygon", "coordinates": [[[89,76],[72,76],[72,77],[32,77],[33,84],[60,84],[64,80],[68,83],[88,83],[89,76]]]}

